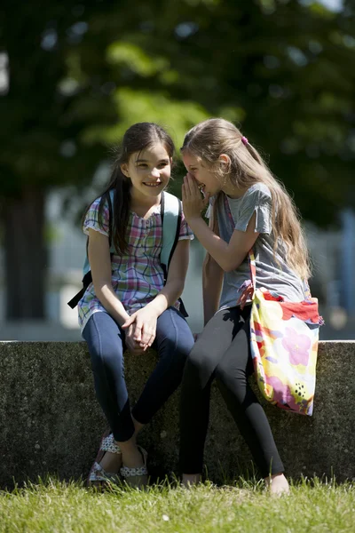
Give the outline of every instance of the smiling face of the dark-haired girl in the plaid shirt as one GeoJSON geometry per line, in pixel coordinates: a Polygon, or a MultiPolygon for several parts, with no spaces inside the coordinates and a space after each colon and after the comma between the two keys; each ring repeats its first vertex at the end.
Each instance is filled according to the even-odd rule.
{"type": "Polygon", "coordinates": [[[129,163],[123,163],[121,170],[130,178],[134,189],[132,192],[138,197],[158,196],[168,185],[171,157],[166,148],[158,143],[130,155],[129,163]]]}

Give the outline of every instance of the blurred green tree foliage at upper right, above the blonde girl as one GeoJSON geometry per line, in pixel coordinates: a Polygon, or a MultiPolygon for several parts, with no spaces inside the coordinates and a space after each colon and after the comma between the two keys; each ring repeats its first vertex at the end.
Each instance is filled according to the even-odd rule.
{"type": "Polygon", "coordinates": [[[304,4],[165,2],[159,24],[151,12],[144,33],[131,32],[109,53],[126,69],[128,87],[115,91],[119,108],[128,94],[152,101],[159,90],[241,123],[304,217],[327,226],[354,203],[355,23],[351,2],[344,12],[304,4]],[[142,53],[156,58],[155,69],[143,72],[142,53]]]}

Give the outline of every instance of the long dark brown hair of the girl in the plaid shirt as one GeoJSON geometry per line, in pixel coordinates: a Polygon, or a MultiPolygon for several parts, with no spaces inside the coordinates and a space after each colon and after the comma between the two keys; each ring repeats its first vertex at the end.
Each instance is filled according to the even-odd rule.
{"type": "MultiPolygon", "coordinates": [[[[130,178],[124,176],[121,170],[123,163],[129,163],[130,156],[136,152],[141,152],[148,147],[162,144],[168,155],[174,155],[174,143],[170,135],[155,123],[136,123],[130,126],[122,139],[122,146],[117,150],[114,158],[114,169],[109,179],[108,185],[100,195],[99,203],[99,225],[102,226],[102,213],[109,191],[114,189],[114,220],[112,221],[111,240],[117,253],[122,255],[128,248],[127,226],[130,216],[130,178]]],[[[99,197],[99,196],[98,196],[99,197]]],[[[83,219],[89,208],[85,211],[83,219]]]]}

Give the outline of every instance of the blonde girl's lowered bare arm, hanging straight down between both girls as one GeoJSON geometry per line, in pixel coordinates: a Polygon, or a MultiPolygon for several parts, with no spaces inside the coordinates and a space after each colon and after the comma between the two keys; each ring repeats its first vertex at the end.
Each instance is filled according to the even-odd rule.
{"type": "MultiPolygon", "coordinates": [[[[209,219],[209,227],[213,227],[212,216],[209,219]]],[[[204,325],[206,325],[217,312],[221,296],[223,276],[223,269],[219,267],[215,259],[211,258],[209,253],[207,253],[202,267],[204,325]]]]}

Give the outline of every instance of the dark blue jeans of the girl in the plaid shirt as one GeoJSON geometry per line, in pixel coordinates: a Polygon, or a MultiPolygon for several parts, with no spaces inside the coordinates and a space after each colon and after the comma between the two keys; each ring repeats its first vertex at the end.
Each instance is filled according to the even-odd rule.
{"type": "Polygon", "coordinates": [[[91,315],[83,338],[89,346],[99,404],[114,439],[128,441],[134,434],[132,416],[146,424],[180,384],[185,360],[193,347],[193,334],[175,307],[159,316],[152,346],[159,360],[131,414],[124,380],[124,331],[109,314],[99,312],[91,315]]]}

